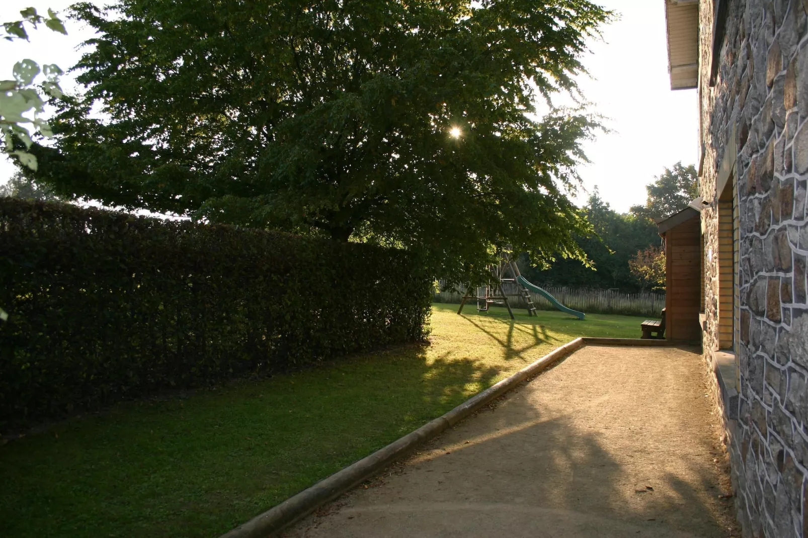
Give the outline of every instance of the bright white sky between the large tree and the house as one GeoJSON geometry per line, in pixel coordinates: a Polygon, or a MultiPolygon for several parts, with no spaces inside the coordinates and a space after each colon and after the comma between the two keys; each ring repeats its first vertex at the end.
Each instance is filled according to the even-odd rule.
{"type": "Polygon", "coordinates": [[[614,132],[585,146],[592,163],[580,173],[585,187],[597,185],[612,208],[625,212],[645,203],[646,184],[665,166],[696,163],[698,102],[696,90],[671,91],[663,0],[595,2],[621,19],[591,45],[584,65],[594,80],[579,85],[614,132]]]}

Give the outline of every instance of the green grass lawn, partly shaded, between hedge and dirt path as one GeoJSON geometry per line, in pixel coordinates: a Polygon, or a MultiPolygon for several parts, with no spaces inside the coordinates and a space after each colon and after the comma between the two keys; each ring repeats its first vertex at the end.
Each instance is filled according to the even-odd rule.
{"type": "Polygon", "coordinates": [[[641,317],[435,305],[431,345],[121,404],[0,446],[2,536],[218,536],[578,336],[641,317]]]}

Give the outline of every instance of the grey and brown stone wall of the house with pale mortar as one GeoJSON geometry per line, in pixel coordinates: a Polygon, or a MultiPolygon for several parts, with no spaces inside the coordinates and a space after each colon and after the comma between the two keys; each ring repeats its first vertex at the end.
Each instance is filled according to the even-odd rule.
{"type": "MultiPolygon", "coordinates": [[[[718,350],[718,200],[734,162],[740,215],[738,420],[725,410],[744,536],[808,538],[808,0],[730,0],[709,86],[713,2],[700,2],[704,350],[718,350]],[[725,152],[730,152],[725,161],[725,152]]],[[[720,397],[718,384],[714,390],[720,397]]]]}

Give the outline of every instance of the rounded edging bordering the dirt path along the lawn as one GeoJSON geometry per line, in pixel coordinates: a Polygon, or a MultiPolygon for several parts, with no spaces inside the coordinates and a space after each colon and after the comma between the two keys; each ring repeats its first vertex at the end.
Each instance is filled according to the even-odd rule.
{"type": "Polygon", "coordinates": [[[550,351],[547,355],[541,357],[541,359],[522,368],[512,376],[499,381],[499,383],[495,385],[491,385],[488,389],[469,398],[461,403],[460,406],[448,411],[448,413],[441,415],[431,422],[427,422],[422,427],[419,427],[419,429],[404,435],[402,438],[393,441],[393,443],[390,443],[384,448],[380,448],[370,456],[366,456],[356,463],[348,465],[345,469],[332,474],[330,477],[322,479],[317,484],[286,499],[279,505],[273,506],[263,512],[263,514],[255,516],[255,518],[239,525],[232,531],[227,532],[222,535],[221,538],[266,538],[267,536],[274,535],[276,532],[284,529],[284,527],[288,527],[288,525],[309,515],[319,506],[334,500],[355,485],[372,477],[381,471],[381,469],[385,469],[385,467],[393,463],[393,461],[398,460],[402,456],[406,456],[419,444],[436,437],[436,435],[454,426],[457,422],[473,414],[474,411],[485,406],[503,393],[507,393],[509,390],[516,388],[517,385],[528,379],[528,377],[535,376],[559,359],[562,359],[565,355],[578,350],[586,344],[650,347],[671,345],[667,340],[642,340],[639,338],[575,338],[562,347],[550,351]]]}

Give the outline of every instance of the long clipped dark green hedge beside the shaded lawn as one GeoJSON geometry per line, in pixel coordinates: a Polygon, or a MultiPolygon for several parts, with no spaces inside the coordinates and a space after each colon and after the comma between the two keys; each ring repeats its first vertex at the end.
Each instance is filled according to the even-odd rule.
{"type": "Polygon", "coordinates": [[[426,336],[400,250],[0,198],[0,431],[426,336]]]}

